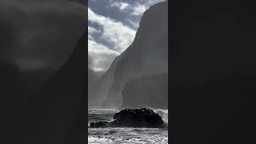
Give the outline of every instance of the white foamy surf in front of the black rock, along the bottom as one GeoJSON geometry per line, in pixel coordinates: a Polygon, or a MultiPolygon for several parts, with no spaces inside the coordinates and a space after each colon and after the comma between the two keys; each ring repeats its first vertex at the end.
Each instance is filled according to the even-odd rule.
{"type": "Polygon", "coordinates": [[[89,143],[168,143],[168,131],[158,128],[89,129],[89,143]],[[110,133],[110,130],[115,133],[110,133]]]}

